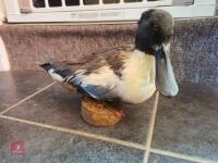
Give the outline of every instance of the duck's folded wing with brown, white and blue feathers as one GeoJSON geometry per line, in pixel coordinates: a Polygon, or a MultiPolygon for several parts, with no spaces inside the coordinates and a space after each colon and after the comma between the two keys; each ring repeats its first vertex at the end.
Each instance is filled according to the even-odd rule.
{"type": "Polygon", "coordinates": [[[52,63],[57,74],[77,90],[98,100],[116,99],[113,91],[122,78],[125,60],[130,57],[133,46],[114,47],[92,52],[76,62],[52,63]]]}

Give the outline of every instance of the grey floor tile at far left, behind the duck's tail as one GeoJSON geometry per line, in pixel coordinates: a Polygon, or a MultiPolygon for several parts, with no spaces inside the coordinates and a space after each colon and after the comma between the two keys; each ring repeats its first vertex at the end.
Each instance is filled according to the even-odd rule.
{"type": "Polygon", "coordinates": [[[0,111],[51,83],[44,72],[0,72],[0,111]]]}

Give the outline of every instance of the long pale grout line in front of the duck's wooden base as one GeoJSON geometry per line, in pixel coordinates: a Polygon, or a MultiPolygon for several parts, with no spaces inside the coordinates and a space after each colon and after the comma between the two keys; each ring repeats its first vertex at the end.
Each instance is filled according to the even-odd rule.
{"type": "Polygon", "coordinates": [[[112,143],[143,150],[143,151],[146,150],[145,146],[140,145],[140,143],[124,141],[124,140],[110,138],[110,137],[106,137],[106,136],[100,136],[100,135],[96,135],[96,134],[90,134],[90,133],[86,133],[86,131],[81,131],[81,130],[76,130],[76,129],[69,129],[69,128],[64,128],[64,127],[41,124],[41,123],[32,122],[32,121],[17,118],[17,117],[13,117],[13,116],[8,116],[8,115],[0,115],[0,118],[11,120],[11,121],[15,121],[15,122],[20,122],[20,123],[24,123],[24,124],[28,124],[28,125],[33,125],[33,126],[38,126],[38,127],[43,127],[43,128],[48,128],[48,129],[52,129],[52,130],[57,130],[57,131],[62,131],[62,133],[66,133],[66,134],[75,135],[75,136],[98,139],[98,140],[102,140],[106,142],[112,142],[112,143]]]}

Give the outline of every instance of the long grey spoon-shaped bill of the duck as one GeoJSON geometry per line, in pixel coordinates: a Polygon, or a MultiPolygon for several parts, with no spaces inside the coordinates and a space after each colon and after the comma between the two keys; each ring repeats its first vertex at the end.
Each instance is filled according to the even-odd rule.
{"type": "Polygon", "coordinates": [[[162,46],[156,54],[156,88],[167,97],[174,97],[179,87],[170,61],[170,47],[162,46]]]}

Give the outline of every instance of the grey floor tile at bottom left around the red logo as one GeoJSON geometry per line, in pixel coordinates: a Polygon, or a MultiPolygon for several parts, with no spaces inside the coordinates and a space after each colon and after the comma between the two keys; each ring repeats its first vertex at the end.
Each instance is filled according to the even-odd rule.
{"type": "Polygon", "coordinates": [[[1,163],[141,163],[144,151],[0,118],[1,163]],[[24,155],[11,153],[22,140],[24,155]]]}

